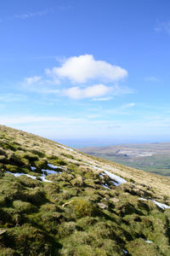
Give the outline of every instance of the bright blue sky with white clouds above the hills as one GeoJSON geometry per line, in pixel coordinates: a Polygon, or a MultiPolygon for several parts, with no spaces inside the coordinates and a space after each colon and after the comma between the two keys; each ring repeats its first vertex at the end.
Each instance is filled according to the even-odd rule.
{"type": "Polygon", "coordinates": [[[0,35],[1,125],[170,141],[169,0],[1,1],[0,35]]]}

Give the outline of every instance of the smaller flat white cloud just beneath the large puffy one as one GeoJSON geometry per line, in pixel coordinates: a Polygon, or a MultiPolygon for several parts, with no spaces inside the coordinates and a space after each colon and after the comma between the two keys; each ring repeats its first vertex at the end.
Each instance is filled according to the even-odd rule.
{"type": "Polygon", "coordinates": [[[64,90],[64,94],[71,99],[77,100],[82,98],[105,96],[110,91],[111,87],[105,86],[104,84],[95,84],[84,89],[81,89],[78,86],[71,87],[70,89],[64,90]]]}

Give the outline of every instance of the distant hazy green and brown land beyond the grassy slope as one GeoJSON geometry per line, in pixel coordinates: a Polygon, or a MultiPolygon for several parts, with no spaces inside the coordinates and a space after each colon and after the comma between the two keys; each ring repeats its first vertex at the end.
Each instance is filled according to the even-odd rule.
{"type": "Polygon", "coordinates": [[[125,166],[170,176],[170,143],[130,143],[81,150],[125,166]]]}

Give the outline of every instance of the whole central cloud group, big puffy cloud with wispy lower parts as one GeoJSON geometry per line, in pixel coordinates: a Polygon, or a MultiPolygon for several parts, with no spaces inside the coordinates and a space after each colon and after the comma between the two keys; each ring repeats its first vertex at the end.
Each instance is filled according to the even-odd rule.
{"type": "Polygon", "coordinates": [[[46,68],[41,76],[24,79],[22,87],[39,93],[67,96],[73,100],[99,99],[103,102],[111,100],[112,96],[133,93],[128,87],[115,84],[127,76],[127,71],[122,67],[106,61],[95,61],[93,55],[72,56],[60,62],[60,67],[46,68]]]}

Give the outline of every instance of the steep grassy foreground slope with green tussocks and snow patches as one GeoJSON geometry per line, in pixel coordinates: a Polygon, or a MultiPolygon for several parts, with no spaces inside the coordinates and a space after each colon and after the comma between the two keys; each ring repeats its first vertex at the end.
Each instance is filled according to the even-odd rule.
{"type": "Polygon", "coordinates": [[[170,178],[0,125],[0,255],[169,255],[170,178]]]}

